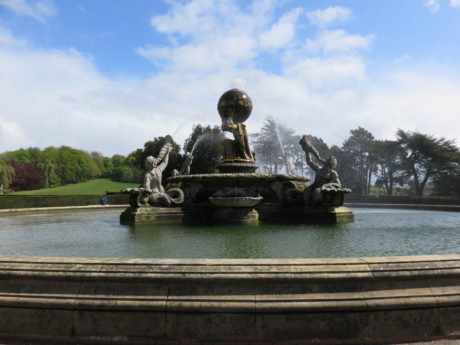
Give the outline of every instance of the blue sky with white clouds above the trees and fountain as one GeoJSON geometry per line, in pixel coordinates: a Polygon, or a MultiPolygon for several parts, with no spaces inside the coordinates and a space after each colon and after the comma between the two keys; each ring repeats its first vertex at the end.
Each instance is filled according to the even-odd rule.
{"type": "Polygon", "coordinates": [[[460,0],[0,0],[0,152],[182,145],[233,87],[249,133],[458,145],[460,0]]]}

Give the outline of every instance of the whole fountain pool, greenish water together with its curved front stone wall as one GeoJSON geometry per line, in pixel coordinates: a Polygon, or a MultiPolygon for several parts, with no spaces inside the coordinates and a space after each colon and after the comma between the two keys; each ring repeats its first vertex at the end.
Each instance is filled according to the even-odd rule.
{"type": "Polygon", "coordinates": [[[117,209],[2,216],[0,339],[458,339],[460,213],[354,213],[340,225],[208,227],[120,225],[117,209]]]}

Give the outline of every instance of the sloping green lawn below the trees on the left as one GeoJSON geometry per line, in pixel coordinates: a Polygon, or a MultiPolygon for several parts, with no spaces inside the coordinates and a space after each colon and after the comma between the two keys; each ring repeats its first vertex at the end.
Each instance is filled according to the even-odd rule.
{"type": "Polygon", "coordinates": [[[119,192],[122,188],[139,187],[139,183],[115,182],[109,179],[95,179],[54,188],[43,188],[11,193],[12,195],[102,195],[105,192],[119,192]]]}

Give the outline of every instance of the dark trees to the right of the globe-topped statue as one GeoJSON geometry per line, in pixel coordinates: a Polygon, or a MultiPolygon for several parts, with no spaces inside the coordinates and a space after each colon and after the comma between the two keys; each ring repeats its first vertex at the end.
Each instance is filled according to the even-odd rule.
{"type": "MultiPolygon", "coordinates": [[[[293,169],[311,176],[298,144],[300,137],[267,117],[260,132],[253,135],[258,164],[269,173],[293,169]]],[[[337,158],[342,185],[356,194],[368,195],[376,186],[387,195],[403,190],[422,196],[429,186],[432,195],[460,197],[460,150],[453,140],[402,129],[395,140],[380,140],[362,127],[351,130],[340,147],[329,147],[312,135],[308,138],[321,156],[337,158]]]]}

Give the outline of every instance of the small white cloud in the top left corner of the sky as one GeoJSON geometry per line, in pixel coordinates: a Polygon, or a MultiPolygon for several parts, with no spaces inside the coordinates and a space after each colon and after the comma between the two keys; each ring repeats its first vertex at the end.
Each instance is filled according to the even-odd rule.
{"type": "Polygon", "coordinates": [[[45,22],[57,13],[56,7],[51,0],[0,0],[0,5],[18,15],[29,16],[40,22],[45,22]]]}

